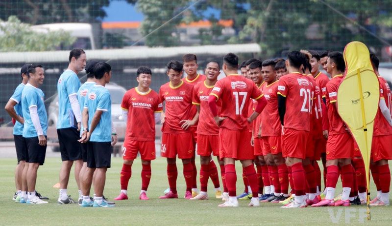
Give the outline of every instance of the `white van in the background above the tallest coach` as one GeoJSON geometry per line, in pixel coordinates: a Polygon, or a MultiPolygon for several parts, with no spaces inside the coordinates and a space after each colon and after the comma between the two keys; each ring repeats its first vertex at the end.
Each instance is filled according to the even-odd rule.
{"type": "Polygon", "coordinates": [[[46,23],[34,25],[31,26],[31,28],[38,32],[64,30],[70,32],[71,36],[76,38],[71,49],[96,49],[93,37],[93,27],[90,23],[46,23]]]}

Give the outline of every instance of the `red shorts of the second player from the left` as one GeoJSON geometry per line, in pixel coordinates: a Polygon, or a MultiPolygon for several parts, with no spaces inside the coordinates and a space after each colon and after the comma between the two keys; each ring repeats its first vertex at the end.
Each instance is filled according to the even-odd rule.
{"type": "Polygon", "coordinates": [[[162,133],[161,156],[165,158],[190,159],[194,156],[191,133],[162,133]]]}

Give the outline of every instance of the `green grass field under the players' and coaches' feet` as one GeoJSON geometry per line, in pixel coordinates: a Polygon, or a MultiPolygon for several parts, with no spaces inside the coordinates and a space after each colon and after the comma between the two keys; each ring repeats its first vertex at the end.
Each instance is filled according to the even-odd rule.
{"type": "MultiPolygon", "coordinates": [[[[199,163],[196,159],[196,163],[199,163]]],[[[209,183],[210,200],[184,200],[185,181],[182,166],[177,160],[177,189],[179,199],[160,200],[159,196],[168,188],[166,159],[157,158],[152,162],[152,177],[147,196],[150,200],[139,200],[141,187],[141,164],[136,160],[128,187],[129,200],[117,201],[114,208],[82,208],[78,205],[57,205],[58,189],[52,186],[58,182],[60,158],[47,158],[38,169],[36,189],[49,197],[49,204],[25,205],[12,201],[15,192],[15,159],[0,159],[0,225],[138,225],[138,226],[250,226],[250,225],[359,225],[360,212],[366,225],[391,225],[392,206],[371,208],[371,221],[366,221],[366,206],[350,207],[308,207],[282,209],[280,204],[262,203],[260,207],[248,207],[249,201],[241,201],[237,208],[220,208],[221,200],[215,199],[212,183],[209,183]],[[365,211],[365,212],[363,212],[365,211]],[[334,224],[337,223],[337,224],[334,224]]],[[[119,172],[121,158],[112,158],[112,167],[107,171],[104,195],[115,198],[120,192],[119,172]]],[[[241,172],[237,163],[237,172],[241,172]]],[[[238,177],[237,192],[244,185],[238,177]]],[[[338,185],[337,191],[341,188],[338,185]]],[[[375,187],[371,186],[371,197],[375,187]]],[[[72,176],[68,194],[77,199],[77,187],[72,176]]]]}

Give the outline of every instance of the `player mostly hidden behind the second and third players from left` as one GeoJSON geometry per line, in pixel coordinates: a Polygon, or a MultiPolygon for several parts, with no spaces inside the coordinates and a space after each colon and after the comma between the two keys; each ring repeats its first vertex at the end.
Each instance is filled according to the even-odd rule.
{"type": "MultiPolygon", "coordinates": [[[[197,73],[197,58],[195,54],[185,54],[182,57],[182,62],[184,63],[184,71],[187,73],[187,77],[183,78],[182,80],[185,83],[191,84],[195,86],[198,82],[202,82],[206,79],[205,75],[200,75],[197,73]]],[[[190,112],[191,115],[196,114],[196,107],[192,106],[192,111],[190,112]]],[[[192,196],[195,197],[198,193],[197,191],[197,184],[196,184],[196,177],[197,177],[197,168],[195,163],[195,152],[196,152],[196,142],[197,142],[197,122],[195,125],[191,126],[192,131],[192,138],[193,138],[193,149],[194,149],[194,156],[191,159],[192,167],[193,167],[193,181],[192,181],[192,196]]],[[[211,167],[217,167],[214,162],[211,163],[211,167]]]]}

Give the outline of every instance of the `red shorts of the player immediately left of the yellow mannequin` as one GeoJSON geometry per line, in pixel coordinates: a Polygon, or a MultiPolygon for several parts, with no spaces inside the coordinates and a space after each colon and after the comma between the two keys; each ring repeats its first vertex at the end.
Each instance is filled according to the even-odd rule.
{"type": "Polygon", "coordinates": [[[347,159],[354,156],[354,139],[348,133],[329,135],[327,160],[347,159]]]}

